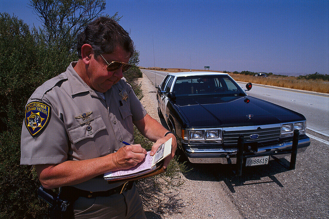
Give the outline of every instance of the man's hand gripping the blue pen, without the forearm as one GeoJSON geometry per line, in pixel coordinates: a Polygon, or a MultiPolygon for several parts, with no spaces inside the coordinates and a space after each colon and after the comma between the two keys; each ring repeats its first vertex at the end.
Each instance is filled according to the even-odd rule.
{"type": "Polygon", "coordinates": [[[117,169],[129,169],[143,161],[146,150],[141,145],[127,145],[112,154],[117,169]]]}

